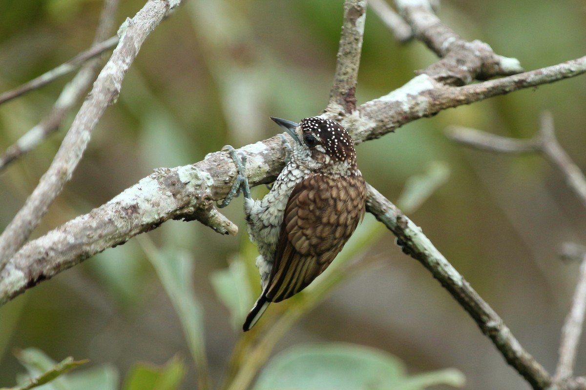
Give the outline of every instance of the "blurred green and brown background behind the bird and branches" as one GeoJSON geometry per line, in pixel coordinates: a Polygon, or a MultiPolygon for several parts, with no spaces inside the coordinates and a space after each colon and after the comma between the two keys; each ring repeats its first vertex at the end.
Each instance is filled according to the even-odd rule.
{"type": "MultiPolygon", "coordinates": [[[[0,0],[0,92],[56,67],[93,40],[98,0],[0,0]]],[[[144,5],[121,1],[116,26],[144,5]]],[[[328,101],[342,0],[191,0],[142,46],[105,112],[73,180],[35,237],[107,202],[154,168],[202,160],[224,144],[239,147],[280,132],[268,116],[298,121],[328,101]]],[[[480,39],[526,70],[584,56],[586,3],[444,1],[438,13],[465,39],[480,39]]],[[[369,9],[358,103],[387,94],[435,57],[418,42],[400,44],[369,9]]],[[[0,153],[45,117],[71,76],[0,105],[0,153]]],[[[462,125],[532,137],[543,110],[561,145],[586,170],[586,77],[571,78],[441,112],[357,147],[367,181],[395,201],[408,178],[438,161],[449,178],[409,216],[505,320],[524,347],[553,372],[577,264],[558,257],[565,241],[586,244],[586,210],[560,172],[540,156],[465,149],[444,136],[462,125]]],[[[13,218],[49,166],[69,128],[0,172],[0,228],[13,218]]],[[[262,196],[265,189],[255,189],[262,196]]],[[[197,222],[166,222],[148,233],[156,246],[185,250],[203,308],[207,356],[217,383],[240,336],[214,294],[210,275],[229,258],[255,256],[241,199],[226,215],[238,236],[197,222]]],[[[367,220],[372,216],[367,216],[367,220]]],[[[387,351],[409,373],[455,367],[466,388],[529,388],[431,275],[384,233],[361,250],[367,267],[287,333],[275,353],[308,341],[349,341],[387,351]]],[[[0,308],[0,386],[23,371],[15,348],[35,346],[61,360],[89,358],[122,375],[137,361],[188,357],[183,388],[193,388],[181,325],[137,240],[108,249],[0,308]]],[[[576,374],[586,374],[580,349],[576,374]]]]}

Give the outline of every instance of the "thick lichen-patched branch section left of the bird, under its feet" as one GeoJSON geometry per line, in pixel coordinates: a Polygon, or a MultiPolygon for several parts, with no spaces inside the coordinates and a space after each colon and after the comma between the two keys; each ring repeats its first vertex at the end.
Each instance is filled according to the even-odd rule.
{"type": "MultiPolygon", "coordinates": [[[[274,180],[283,167],[285,152],[278,137],[239,150],[248,156],[250,185],[274,180]]],[[[226,196],[236,174],[226,152],[210,153],[193,165],[156,170],[110,202],[23,246],[0,272],[0,305],[169,219],[199,220],[219,233],[235,234],[237,226],[218,212],[215,201],[226,196]]]]}

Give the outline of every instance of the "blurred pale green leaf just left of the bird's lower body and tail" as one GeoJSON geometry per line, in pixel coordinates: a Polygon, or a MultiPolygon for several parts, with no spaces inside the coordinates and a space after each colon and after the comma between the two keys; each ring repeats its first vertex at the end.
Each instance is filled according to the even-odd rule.
{"type": "Polygon", "coordinates": [[[228,268],[212,272],[210,279],[216,295],[230,311],[234,329],[240,328],[253,301],[243,260],[238,255],[234,256],[229,260],[228,268]]]}

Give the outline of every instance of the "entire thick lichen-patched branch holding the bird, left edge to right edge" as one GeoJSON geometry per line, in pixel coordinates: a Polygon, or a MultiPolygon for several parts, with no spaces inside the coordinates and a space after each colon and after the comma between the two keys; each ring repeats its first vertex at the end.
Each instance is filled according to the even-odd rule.
{"type": "MultiPolygon", "coordinates": [[[[347,129],[352,131],[355,143],[360,143],[379,138],[411,120],[430,116],[431,112],[439,112],[452,106],[467,104],[471,101],[524,87],[533,87],[540,83],[573,77],[585,72],[586,57],[582,57],[541,70],[494,81],[485,81],[467,87],[446,87],[432,80],[428,75],[419,75],[390,94],[360,105],[357,111],[351,115],[338,112],[337,115],[330,113],[329,117],[342,122],[347,129]],[[485,84],[488,85],[485,86],[485,84]],[[475,96],[473,94],[475,88],[480,88],[483,94],[475,96]]],[[[277,177],[284,165],[282,143],[280,139],[275,139],[275,137],[247,145],[241,150],[248,156],[246,168],[251,186],[271,182],[277,177]]],[[[188,167],[192,167],[192,165],[173,168],[173,170],[187,169],[188,167]]],[[[57,227],[40,239],[30,241],[12,258],[9,263],[10,267],[6,267],[4,271],[0,272],[0,305],[21,294],[26,288],[72,267],[110,246],[124,243],[136,234],[153,229],[168,219],[197,219],[218,231],[224,233],[233,231],[233,225],[230,225],[215,208],[210,206],[211,201],[223,199],[228,193],[231,182],[237,175],[233,161],[226,156],[226,153],[216,152],[209,154],[205,160],[194,164],[193,167],[199,172],[194,173],[196,177],[205,177],[207,181],[211,179],[213,184],[206,184],[205,188],[199,187],[202,184],[196,187],[189,187],[188,183],[178,184],[175,187],[175,197],[195,196],[197,198],[199,196],[199,200],[196,199],[195,203],[190,203],[191,205],[184,203],[176,205],[178,208],[176,211],[173,211],[175,210],[173,207],[166,208],[163,205],[156,205],[156,198],[138,190],[138,188],[142,188],[142,184],[139,182],[134,187],[127,189],[127,191],[136,194],[132,198],[134,201],[117,203],[118,198],[127,193],[125,191],[87,215],[57,227]],[[200,164],[203,164],[203,167],[200,164]],[[199,193],[199,195],[193,195],[193,192],[199,193]],[[155,201],[152,202],[152,199],[155,201]],[[115,204],[111,205],[112,202],[115,204]],[[128,219],[125,217],[125,210],[142,210],[145,205],[153,205],[147,208],[152,212],[145,212],[143,215],[139,211],[136,218],[128,219]],[[120,223],[120,218],[115,218],[115,216],[123,217],[124,223],[120,223]],[[138,218],[139,216],[140,218],[138,218]],[[87,220],[99,220],[100,223],[96,228],[88,228],[87,220]],[[70,237],[72,232],[75,233],[73,239],[70,237]],[[115,237],[111,240],[102,240],[108,234],[114,234],[115,237]],[[83,239],[81,239],[82,237],[83,239]],[[45,263],[47,265],[43,269],[42,264],[45,263]],[[28,271],[29,268],[30,271],[28,271]]],[[[174,172],[169,174],[175,177],[174,172]]],[[[149,182],[162,180],[158,178],[157,173],[155,173],[155,177],[151,175],[147,179],[150,180],[149,182]]],[[[155,184],[153,186],[156,187],[155,184]]],[[[161,196],[163,196],[166,191],[164,186],[161,187],[161,191],[161,196]]]]}

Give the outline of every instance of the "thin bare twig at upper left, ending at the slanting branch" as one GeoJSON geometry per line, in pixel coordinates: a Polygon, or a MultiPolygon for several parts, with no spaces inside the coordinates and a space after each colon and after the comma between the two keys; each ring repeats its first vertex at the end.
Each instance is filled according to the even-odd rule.
{"type": "Polygon", "coordinates": [[[26,92],[34,91],[35,89],[44,87],[57,78],[62,77],[67,73],[73,72],[90,58],[100,56],[100,54],[104,53],[104,51],[112,49],[117,44],[117,36],[111,37],[104,42],[95,44],[94,46],[90,47],[90,49],[77,54],[77,56],[71,58],[71,60],[67,61],[66,63],[59,65],[58,67],[40,75],[37,78],[33,78],[33,80],[26,82],[18,88],[4,92],[2,95],[0,95],[0,104],[8,102],[14,98],[18,98],[18,96],[26,94],[26,92]]]}

